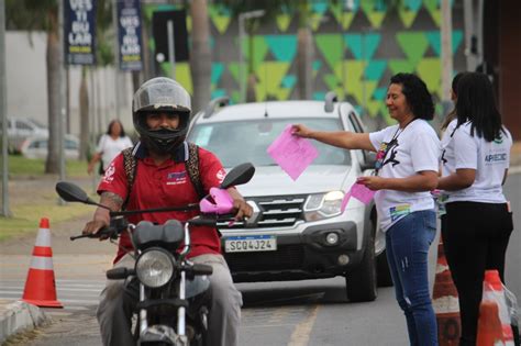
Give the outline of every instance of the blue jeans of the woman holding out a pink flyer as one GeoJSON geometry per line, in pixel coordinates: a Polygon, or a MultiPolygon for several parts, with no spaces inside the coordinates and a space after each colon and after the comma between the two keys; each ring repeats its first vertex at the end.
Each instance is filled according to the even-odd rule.
{"type": "Polygon", "coordinates": [[[429,292],[428,254],[436,235],[432,210],[412,212],[386,233],[396,299],[406,314],[411,345],[437,345],[436,316],[429,292]]]}

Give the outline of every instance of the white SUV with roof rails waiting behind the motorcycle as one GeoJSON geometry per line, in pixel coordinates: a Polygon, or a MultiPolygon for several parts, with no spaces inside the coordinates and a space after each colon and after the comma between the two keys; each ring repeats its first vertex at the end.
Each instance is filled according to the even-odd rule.
{"type": "Polygon", "coordinates": [[[212,101],[190,123],[188,141],[213,152],[224,167],[251,161],[255,176],[241,193],[254,209],[245,223],[220,224],[222,249],[236,282],[318,279],[344,276],[350,301],[373,301],[377,286],[391,286],[385,235],[374,203],[344,192],[370,175],[374,155],[312,142],[318,158],[293,181],[266,149],[288,124],[324,131],[363,132],[352,104],[280,101],[228,105],[212,101]]]}

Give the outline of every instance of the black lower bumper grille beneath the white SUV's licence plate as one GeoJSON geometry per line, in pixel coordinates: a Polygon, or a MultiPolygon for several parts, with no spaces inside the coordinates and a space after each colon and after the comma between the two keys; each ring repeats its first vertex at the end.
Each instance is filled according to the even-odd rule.
{"type": "Polygon", "coordinates": [[[276,252],[225,254],[232,272],[300,269],[304,250],[301,245],[280,246],[276,252]]]}

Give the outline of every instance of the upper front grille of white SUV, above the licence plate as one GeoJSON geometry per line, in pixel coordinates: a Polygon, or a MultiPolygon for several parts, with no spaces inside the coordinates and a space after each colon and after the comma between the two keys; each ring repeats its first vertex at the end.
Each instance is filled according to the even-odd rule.
{"type": "Polygon", "coordinates": [[[219,223],[219,228],[268,228],[268,227],[289,227],[295,225],[299,220],[303,220],[303,203],[307,196],[275,196],[247,198],[254,201],[260,212],[260,216],[254,223],[237,222],[232,226],[228,223],[219,223]]]}

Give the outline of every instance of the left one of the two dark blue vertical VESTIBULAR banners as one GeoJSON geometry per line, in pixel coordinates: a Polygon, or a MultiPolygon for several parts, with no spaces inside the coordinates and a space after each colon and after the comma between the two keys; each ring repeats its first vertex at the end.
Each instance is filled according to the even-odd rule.
{"type": "Polygon", "coordinates": [[[67,65],[96,64],[96,0],[64,0],[67,65]]]}

